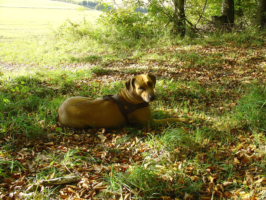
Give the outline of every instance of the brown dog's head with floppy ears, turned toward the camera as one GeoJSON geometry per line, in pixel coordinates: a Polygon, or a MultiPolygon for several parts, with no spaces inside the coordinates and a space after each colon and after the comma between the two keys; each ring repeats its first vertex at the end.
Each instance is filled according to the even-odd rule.
{"type": "Polygon", "coordinates": [[[141,74],[128,79],[125,83],[126,89],[131,94],[142,97],[146,102],[155,100],[154,88],[156,78],[152,74],[141,74]]]}

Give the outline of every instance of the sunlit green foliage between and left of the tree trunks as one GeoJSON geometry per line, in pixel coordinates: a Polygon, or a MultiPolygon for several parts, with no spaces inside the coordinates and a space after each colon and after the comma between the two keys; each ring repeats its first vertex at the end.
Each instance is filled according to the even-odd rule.
{"type": "MultiPolygon", "coordinates": [[[[152,27],[153,33],[157,35],[164,35],[173,33],[174,28],[174,15],[173,15],[173,7],[171,5],[171,1],[156,1],[150,0],[147,4],[147,15],[145,17],[139,17],[134,15],[132,12],[132,7],[142,7],[144,4],[142,1],[137,1],[132,3],[131,1],[125,1],[128,5],[126,8],[117,9],[112,8],[111,11],[109,9],[105,10],[105,17],[102,17],[101,22],[105,25],[115,26],[118,28],[118,32],[121,34],[126,33],[128,30],[125,28],[123,30],[123,25],[129,26],[139,26],[141,30],[143,30],[143,24],[146,23],[148,29],[152,27]],[[127,11],[126,11],[127,10],[127,11]],[[129,13],[131,13],[130,20],[129,13]],[[115,18],[117,17],[117,21],[115,18]],[[127,19],[126,23],[123,20],[127,19]],[[119,27],[119,22],[122,21],[121,26],[119,27]],[[135,23],[135,22],[138,23],[135,23]],[[112,24],[112,25],[111,25],[112,24]],[[122,25],[123,24],[123,25],[122,25]],[[163,30],[163,31],[162,31],[163,30]]],[[[241,4],[236,6],[236,9],[241,9],[243,13],[243,17],[238,20],[239,27],[254,27],[254,20],[257,10],[257,3],[255,1],[243,1],[241,4]],[[241,23],[240,23],[241,22],[241,23]]],[[[192,29],[193,31],[197,31],[198,29],[208,27],[208,29],[213,28],[211,22],[211,16],[220,15],[221,12],[221,2],[217,0],[211,1],[185,1],[185,15],[187,20],[187,29],[192,29]]],[[[133,28],[134,29],[134,28],[133,28]]],[[[132,30],[131,30],[132,31],[132,30]]],[[[133,31],[134,32],[134,31],[133,31]]],[[[140,34],[146,35],[146,34],[140,34]]]]}

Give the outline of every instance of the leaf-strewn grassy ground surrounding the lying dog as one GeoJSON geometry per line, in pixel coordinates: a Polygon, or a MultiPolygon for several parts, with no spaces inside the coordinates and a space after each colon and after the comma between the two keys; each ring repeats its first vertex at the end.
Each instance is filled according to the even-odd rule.
{"type": "Polygon", "coordinates": [[[133,40],[66,21],[41,40],[1,39],[1,198],[263,199],[264,34],[133,40]],[[141,73],[157,77],[153,116],[188,123],[59,127],[68,97],[115,94],[141,73]],[[69,175],[77,182],[26,191],[69,175]]]}

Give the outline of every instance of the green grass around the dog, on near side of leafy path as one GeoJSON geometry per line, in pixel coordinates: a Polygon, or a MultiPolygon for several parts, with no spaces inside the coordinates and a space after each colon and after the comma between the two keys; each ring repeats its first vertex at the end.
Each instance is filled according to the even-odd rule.
{"type": "MultiPolygon", "coordinates": [[[[11,178],[12,174],[25,170],[21,161],[14,161],[16,153],[11,155],[8,153],[20,149],[17,147],[18,138],[24,138],[22,141],[25,142],[28,141],[22,142],[24,143],[22,147],[31,143],[36,137],[47,138],[48,135],[62,138],[63,140],[60,140],[65,145],[74,137],[87,138],[88,136],[81,136],[83,131],[75,131],[73,134],[76,136],[74,137],[69,135],[69,131],[64,128],[57,132],[56,109],[64,99],[70,96],[98,98],[101,95],[114,94],[123,87],[124,80],[104,83],[89,81],[95,76],[106,76],[105,74],[109,73],[101,67],[84,71],[54,68],[45,72],[36,68],[27,75],[23,72],[21,75],[12,72],[2,74],[1,133],[8,142],[1,143],[1,178],[11,178]],[[97,73],[103,75],[97,75],[97,73]],[[61,135],[59,134],[59,136],[58,133],[61,135]],[[7,139],[8,137],[11,137],[12,140],[7,139]]],[[[106,189],[98,193],[99,197],[108,199],[114,198],[114,196],[121,197],[125,193],[129,193],[132,198],[136,199],[160,196],[181,198],[185,193],[193,194],[194,197],[202,196],[202,187],[205,184],[201,178],[195,177],[201,177],[208,169],[213,169],[212,174],[218,174],[218,178],[213,178],[219,184],[231,179],[244,181],[244,177],[241,179],[241,175],[236,170],[236,164],[232,163],[231,159],[223,157],[225,156],[223,150],[229,146],[236,149],[234,153],[237,153],[238,146],[243,144],[241,138],[249,138],[252,134],[254,139],[247,140],[247,145],[254,145],[258,155],[265,152],[265,145],[263,145],[266,141],[263,136],[265,127],[263,121],[260,120],[265,116],[265,86],[254,82],[236,87],[234,90],[239,91],[237,104],[232,106],[230,111],[223,113],[211,111],[209,107],[205,106],[199,108],[200,104],[206,100],[213,100],[213,98],[219,97],[220,93],[226,92],[224,90],[216,90],[218,94],[210,97],[213,95],[212,92],[201,88],[193,81],[183,82],[174,79],[160,79],[160,77],[155,89],[158,100],[151,104],[151,108],[153,110],[162,109],[156,113],[156,117],[171,117],[175,115],[175,111],[178,111],[178,115],[189,117],[192,122],[184,124],[182,127],[178,125],[154,127],[155,134],[154,132],[153,134],[149,133],[144,138],[141,138],[137,132],[148,132],[145,127],[144,129],[132,127],[130,130],[132,134],[121,135],[122,137],[119,137],[114,143],[119,148],[123,148],[128,143],[132,144],[132,139],[135,137],[139,138],[139,141],[129,148],[129,153],[132,152],[133,156],[134,151],[138,151],[137,149],[146,149],[143,153],[138,153],[139,156],[142,155],[141,165],[133,164],[126,171],[120,171],[117,166],[110,165],[110,171],[103,173],[103,177],[100,179],[106,185],[106,189]],[[242,93],[242,90],[245,93],[242,93]],[[197,97],[197,101],[191,105],[187,98],[192,97],[197,97]],[[166,99],[167,104],[165,103],[166,99]],[[165,108],[173,109],[173,111],[166,113],[163,111],[165,108]],[[226,120],[223,121],[223,119],[226,120]],[[234,131],[232,132],[232,130],[234,131]]],[[[231,100],[231,97],[224,98],[219,103],[227,104],[231,100]]],[[[85,130],[86,132],[87,130],[85,130]]],[[[121,129],[116,129],[115,132],[118,134],[121,129]]],[[[88,138],[93,136],[90,129],[86,134],[92,134],[88,138]]],[[[54,141],[54,146],[57,139],[52,138],[50,137],[48,141],[54,141]]],[[[37,157],[32,159],[33,162],[38,162],[43,166],[51,166],[48,171],[43,171],[32,177],[34,182],[52,173],[59,177],[72,173],[73,169],[77,169],[77,167],[86,168],[95,166],[96,163],[104,164],[103,159],[99,160],[95,156],[97,148],[90,151],[77,143],[70,142],[63,151],[58,150],[57,152],[52,149],[48,148],[42,154],[46,157],[44,160],[48,160],[48,165],[37,157]],[[64,171],[58,169],[64,169],[64,171]]],[[[113,152],[111,149],[106,151],[113,152]]],[[[118,159],[121,153],[122,150],[116,149],[115,155],[118,159]]],[[[232,153],[231,156],[234,157],[234,154],[232,153]]],[[[255,163],[262,168],[263,162],[262,159],[255,163]]],[[[113,165],[116,164],[113,163],[113,165]]],[[[258,172],[254,173],[258,174],[258,172]]],[[[263,171],[260,174],[266,175],[263,171]]],[[[257,186],[254,187],[257,188],[257,186]]],[[[239,188],[239,185],[234,185],[233,188],[239,188]]],[[[231,187],[231,189],[233,188],[231,187]]],[[[51,188],[51,190],[56,194],[56,188],[51,188]]],[[[261,192],[259,188],[257,191],[258,194],[261,192]]],[[[42,194],[38,191],[35,193],[37,196],[42,194]]],[[[47,193],[43,191],[45,198],[50,198],[48,193],[48,191],[47,193]]]]}

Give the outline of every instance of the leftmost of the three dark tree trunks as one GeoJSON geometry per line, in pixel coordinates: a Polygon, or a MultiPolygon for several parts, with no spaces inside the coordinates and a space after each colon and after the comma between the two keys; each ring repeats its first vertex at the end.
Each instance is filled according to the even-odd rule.
{"type": "Polygon", "coordinates": [[[186,16],[185,16],[185,0],[172,0],[173,3],[173,33],[175,35],[185,36],[186,16]]]}

